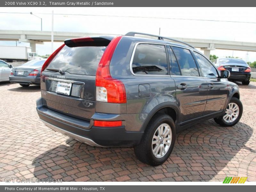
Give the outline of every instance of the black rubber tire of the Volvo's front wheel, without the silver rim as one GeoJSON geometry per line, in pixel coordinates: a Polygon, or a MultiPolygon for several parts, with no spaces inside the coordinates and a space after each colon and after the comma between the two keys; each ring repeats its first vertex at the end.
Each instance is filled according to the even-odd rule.
{"type": "Polygon", "coordinates": [[[236,97],[232,97],[230,102],[229,103],[236,103],[239,107],[239,114],[236,118],[236,120],[234,122],[231,122],[231,123],[227,123],[226,121],[224,121],[223,119],[223,116],[220,116],[220,117],[217,117],[217,118],[214,118],[214,121],[223,126],[223,127],[231,127],[231,126],[234,126],[235,124],[237,124],[240,120],[240,118],[242,117],[242,114],[243,114],[243,105],[241,103],[241,101],[239,99],[237,99],[236,97]]]}

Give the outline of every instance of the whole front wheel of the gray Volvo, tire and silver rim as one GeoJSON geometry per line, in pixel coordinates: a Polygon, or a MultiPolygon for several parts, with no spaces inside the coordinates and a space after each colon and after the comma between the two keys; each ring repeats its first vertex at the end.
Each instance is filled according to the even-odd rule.
{"type": "Polygon", "coordinates": [[[231,127],[237,124],[243,114],[243,105],[239,99],[232,97],[228,103],[225,114],[223,116],[214,118],[214,121],[223,126],[231,127]]]}

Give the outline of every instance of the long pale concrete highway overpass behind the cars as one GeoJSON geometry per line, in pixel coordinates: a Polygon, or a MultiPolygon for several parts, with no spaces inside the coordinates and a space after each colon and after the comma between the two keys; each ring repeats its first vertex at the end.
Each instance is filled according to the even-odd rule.
{"type": "MultiPolygon", "coordinates": [[[[74,33],[74,32],[53,32],[54,42],[63,42],[68,38],[80,36],[103,35],[99,33],[74,33]]],[[[106,34],[105,34],[106,35],[106,34]]],[[[240,41],[223,41],[213,39],[195,39],[171,37],[185,43],[191,44],[196,48],[204,50],[204,55],[210,57],[211,50],[225,49],[237,51],[256,52],[256,43],[240,41]]],[[[36,52],[36,44],[51,42],[51,31],[23,31],[23,30],[0,30],[0,41],[21,41],[30,43],[32,51],[36,52]]]]}

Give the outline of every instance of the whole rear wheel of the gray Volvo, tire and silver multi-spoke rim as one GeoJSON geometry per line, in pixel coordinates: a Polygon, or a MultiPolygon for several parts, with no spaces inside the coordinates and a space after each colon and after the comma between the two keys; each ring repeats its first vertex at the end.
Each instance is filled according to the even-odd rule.
{"type": "Polygon", "coordinates": [[[170,156],[175,142],[175,123],[172,117],[156,115],[149,122],[140,144],[134,147],[137,158],[146,164],[163,164],[170,156]]]}

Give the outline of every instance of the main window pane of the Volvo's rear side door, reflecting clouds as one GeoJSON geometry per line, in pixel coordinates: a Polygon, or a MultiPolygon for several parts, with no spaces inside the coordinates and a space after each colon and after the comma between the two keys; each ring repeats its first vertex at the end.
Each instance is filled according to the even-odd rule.
{"type": "Polygon", "coordinates": [[[180,65],[182,76],[199,76],[195,60],[188,49],[172,47],[173,52],[180,65]]]}

